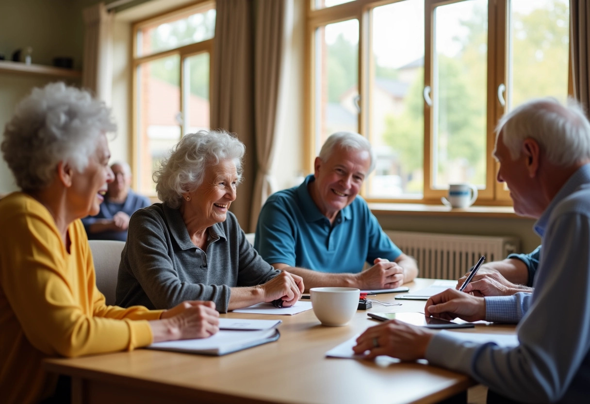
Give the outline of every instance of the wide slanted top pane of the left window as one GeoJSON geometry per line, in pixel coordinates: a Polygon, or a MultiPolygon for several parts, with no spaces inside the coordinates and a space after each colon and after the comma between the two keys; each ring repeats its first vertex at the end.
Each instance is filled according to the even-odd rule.
{"type": "Polygon", "coordinates": [[[214,4],[210,7],[182,19],[148,25],[137,31],[137,56],[146,56],[213,38],[214,4]]]}

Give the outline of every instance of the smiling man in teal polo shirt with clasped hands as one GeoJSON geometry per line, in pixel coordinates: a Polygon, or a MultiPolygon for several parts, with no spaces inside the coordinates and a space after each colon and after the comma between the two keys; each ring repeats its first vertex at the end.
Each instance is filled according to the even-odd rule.
{"type": "Polygon", "coordinates": [[[383,233],[358,196],[375,153],[358,133],[327,138],[303,184],[273,194],[260,211],[255,249],[303,278],[306,288],[396,288],[418,274],[416,262],[383,233]],[[368,262],[371,268],[362,271],[368,262]],[[361,272],[362,271],[362,272],[361,272]]]}

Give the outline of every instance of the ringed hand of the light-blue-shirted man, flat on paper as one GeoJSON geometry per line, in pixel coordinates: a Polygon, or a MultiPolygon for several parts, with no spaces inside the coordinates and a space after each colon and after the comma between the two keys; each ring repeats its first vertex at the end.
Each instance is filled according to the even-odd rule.
{"type": "Polygon", "coordinates": [[[367,359],[388,355],[401,360],[424,358],[432,339],[431,331],[399,320],[391,320],[367,330],[356,338],[355,354],[366,354],[367,359]],[[376,340],[374,339],[376,338],[376,340]],[[377,347],[375,347],[375,342],[377,347]]]}

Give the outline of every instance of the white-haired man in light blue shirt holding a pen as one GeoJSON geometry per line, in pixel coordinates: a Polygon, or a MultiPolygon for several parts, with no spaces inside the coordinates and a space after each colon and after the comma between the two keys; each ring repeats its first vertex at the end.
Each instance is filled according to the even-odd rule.
{"type": "MultiPolygon", "coordinates": [[[[581,107],[533,100],[504,116],[494,156],[514,211],[537,218],[542,252],[532,294],[431,297],[435,317],[518,323],[519,345],[464,343],[392,321],[371,327],[357,353],[425,358],[489,386],[489,400],[581,403],[590,396],[590,123],[581,107]],[[501,395],[501,396],[500,396],[501,395]],[[490,399],[491,398],[493,399],[490,399]]],[[[468,291],[467,286],[465,291],[468,291]]]]}

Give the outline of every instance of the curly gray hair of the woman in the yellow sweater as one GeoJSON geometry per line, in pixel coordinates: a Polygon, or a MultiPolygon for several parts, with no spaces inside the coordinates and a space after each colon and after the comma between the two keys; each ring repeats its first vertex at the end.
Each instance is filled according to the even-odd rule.
{"type": "Polygon", "coordinates": [[[64,83],[35,88],[18,103],[0,148],[24,191],[47,187],[60,161],[81,172],[101,133],[117,126],[104,102],[64,83]]]}

